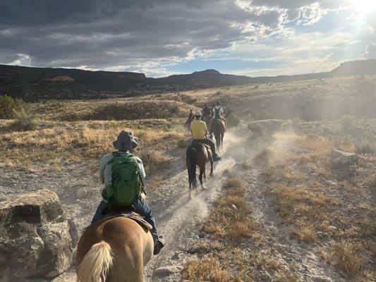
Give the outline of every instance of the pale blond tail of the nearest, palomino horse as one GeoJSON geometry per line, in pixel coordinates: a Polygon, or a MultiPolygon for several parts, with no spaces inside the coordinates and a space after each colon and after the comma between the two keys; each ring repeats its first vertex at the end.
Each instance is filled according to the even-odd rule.
{"type": "Polygon", "coordinates": [[[101,241],[92,245],[78,266],[78,281],[105,282],[113,259],[111,247],[108,243],[101,241]]]}

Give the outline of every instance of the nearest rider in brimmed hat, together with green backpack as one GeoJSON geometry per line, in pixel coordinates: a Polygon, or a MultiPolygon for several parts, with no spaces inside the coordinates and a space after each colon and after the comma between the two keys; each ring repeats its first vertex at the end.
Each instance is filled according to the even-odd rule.
{"type": "Polygon", "coordinates": [[[118,151],[104,155],[99,164],[99,181],[104,184],[104,188],[102,202],[95,212],[92,223],[104,217],[102,211],[105,207],[133,206],[135,212],[144,216],[145,220],[152,225],[154,255],[157,255],[164,247],[164,241],[157,234],[152,209],[142,198],[144,166],[139,157],[131,154],[138,145],[138,137],[123,130],[113,145],[118,151]]]}

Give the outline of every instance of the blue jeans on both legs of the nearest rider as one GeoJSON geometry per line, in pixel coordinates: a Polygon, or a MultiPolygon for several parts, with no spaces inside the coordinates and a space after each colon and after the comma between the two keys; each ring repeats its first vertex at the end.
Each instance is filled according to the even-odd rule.
{"type": "MultiPolygon", "coordinates": [[[[135,212],[138,214],[141,214],[142,216],[145,217],[145,220],[151,224],[152,226],[152,236],[154,238],[154,241],[158,240],[158,234],[157,234],[157,228],[155,227],[155,220],[154,220],[154,215],[152,212],[152,209],[149,207],[147,202],[143,200],[142,198],[135,199],[133,202],[133,207],[135,207],[135,212]]],[[[97,207],[97,210],[95,211],[95,214],[92,218],[92,223],[96,223],[100,219],[103,219],[104,216],[102,214],[102,210],[107,207],[107,203],[101,201],[99,203],[99,206],[97,207]]]]}

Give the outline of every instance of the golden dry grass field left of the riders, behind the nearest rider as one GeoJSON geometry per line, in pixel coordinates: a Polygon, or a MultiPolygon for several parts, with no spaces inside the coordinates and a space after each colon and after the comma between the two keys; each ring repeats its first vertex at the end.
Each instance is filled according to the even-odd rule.
{"type": "Polygon", "coordinates": [[[97,161],[103,154],[113,152],[112,141],[121,130],[131,130],[140,138],[135,154],[145,157],[148,171],[166,164],[162,152],[176,147],[176,140],[184,133],[162,128],[174,123],[166,120],[82,121],[40,123],[37,130],[20,132],[13,129],[12,121],[0,121],[0,160],[2,166],[28,167],[42,162],[56,166],[65,161],[97,161]],[[27,165],[26,165],[27,164],[27,165]]]}

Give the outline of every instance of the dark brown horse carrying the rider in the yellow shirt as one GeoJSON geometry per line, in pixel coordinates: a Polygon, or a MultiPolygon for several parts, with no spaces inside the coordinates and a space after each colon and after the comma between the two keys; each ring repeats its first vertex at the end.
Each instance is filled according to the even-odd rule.
{"type": "Polygon", "coordinates": [[[200,184],[202,189],[206,189],[202,184],[202,176],[206,179],[205,165],[210,161],[210,176],[213,175],[213,158],[212,150],[206,144],[195,142],[189,145],[186,152],[186,165],[188,168],[189,197],[191,198],[192,188],[197,188],[196,166],[200,168],[200,184]]]}

